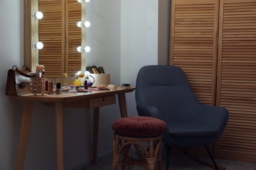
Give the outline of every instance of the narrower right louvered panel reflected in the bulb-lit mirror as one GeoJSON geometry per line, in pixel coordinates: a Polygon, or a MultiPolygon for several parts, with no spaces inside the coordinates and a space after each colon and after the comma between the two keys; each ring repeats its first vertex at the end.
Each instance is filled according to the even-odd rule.
{"type": "Polygon", "coordinates": [[[81,28],[77,22],[81,21],[81,5],[76,0],[68,0],[68,44],[67,44],[67,73],[74,75],[81,70],[81,53],[77,52],[77,46],[81,46],[81,28]]]}

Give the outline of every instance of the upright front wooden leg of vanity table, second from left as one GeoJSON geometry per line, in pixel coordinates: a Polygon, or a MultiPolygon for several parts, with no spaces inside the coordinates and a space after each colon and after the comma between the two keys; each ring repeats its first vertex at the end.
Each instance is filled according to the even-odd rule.
{"type": "Polygon", "coordinates": [[[56,112],[56,148],[57,148],[57,169],[64,169],[63,160],[63,118],[62,118],[62,103],[55,103],[56,112]]]}

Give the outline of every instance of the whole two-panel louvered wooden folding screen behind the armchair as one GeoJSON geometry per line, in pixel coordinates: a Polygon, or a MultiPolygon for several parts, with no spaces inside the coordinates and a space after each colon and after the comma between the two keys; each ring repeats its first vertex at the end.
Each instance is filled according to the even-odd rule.
{"type": "Polygon", "coordinates": [[[170,64],[230,112],[215,156],[256,162],[256,0],[173,0],[170,64]]]}

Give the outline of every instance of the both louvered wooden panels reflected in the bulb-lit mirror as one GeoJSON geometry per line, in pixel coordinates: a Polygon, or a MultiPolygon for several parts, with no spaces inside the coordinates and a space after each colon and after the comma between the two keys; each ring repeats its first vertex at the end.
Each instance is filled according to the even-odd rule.
{"type": "Polygon", "coordinates": [[[81,3],[77,0],[40,0],[39,41],[44,48],[39,51],[39,63],[45,65],[45,76],[74,75],[81,70],[81,3]]]}

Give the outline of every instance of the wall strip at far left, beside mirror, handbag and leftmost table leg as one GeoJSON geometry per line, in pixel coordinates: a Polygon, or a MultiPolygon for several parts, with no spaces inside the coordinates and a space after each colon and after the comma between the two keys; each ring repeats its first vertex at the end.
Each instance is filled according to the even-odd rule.
{"type": "Polygon", "coordinates": [[[22,1],[0,1],[0,169],[13,169],[16,156],[16,131],[20,122],[18,108],[21,107],[20,103],[5,96],[5,83],[7,70],[12,65],[20,65],[24,58],[22,13],[22,1]]]}

